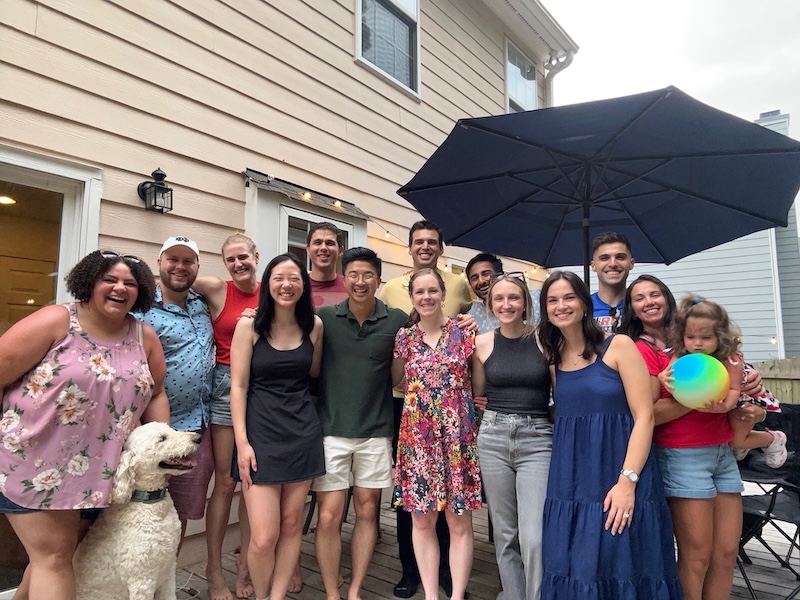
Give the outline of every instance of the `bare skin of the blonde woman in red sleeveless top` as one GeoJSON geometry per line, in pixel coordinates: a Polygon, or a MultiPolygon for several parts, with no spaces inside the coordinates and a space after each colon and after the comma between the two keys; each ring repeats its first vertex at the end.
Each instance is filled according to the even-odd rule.
{"type": "MultiPolygon", "coordinates": [[[[258,289],[258,252],[248,244],[228,244],[222,249],[222,261],[234,285],[241,291],[252,294],[258,289]]],[[[211,319],[219,317],[225,308],[228,285],[219,277],[198,277],[193,289],[205,296],[211,319]]],[[[214,489],[206,508],[206,579],[211,600],[233,600],[222,573],[222,544],[228,528],[228,517],[233,502],[236,482],[231,477],[233,456],[233,428],[226,425],[211,425],[211,444],[214,453],[214,489]]],[[[236,559],[236,597],[247,598],[253,593],[247,561],[247,544],[250,526],[244,502],[239,503],[239,532],[241,552],[236,559]]]]}

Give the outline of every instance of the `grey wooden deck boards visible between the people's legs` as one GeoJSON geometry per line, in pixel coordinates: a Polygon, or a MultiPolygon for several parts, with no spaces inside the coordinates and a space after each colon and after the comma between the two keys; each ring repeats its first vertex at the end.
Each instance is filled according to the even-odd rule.
{"type": "MultiPolygon", "coordinates": [[[[486,515],[486,509],[475,513],[475,562],[468,587],[472,598],[475,600],[495,600],[499,590],[494,546],[489,542],[486,515]]],[[[342,534],[342,573],[345,578],[345,585],[341,590],[342,597],[346,597],[349,575],[350,536],[353,530],[352,515],[349,520],[349,523],[346,522],[344,524],[342,534]]],[[[793,528],[790,530],[793,531],[793,528]]],[[[397,541],[395,537],[395,515],[387,504],[383,504],[381,510],[381,531],[383,537],[378,541],[378,545],[375,548],[372,564],[362,590],[363,600],[394,599],[392,589],[400,579],[400,561],[397,558],[397,541]]],[[[765,537],[774,548],[782,549],[784,554],[788,550],[788,542],[777,533],[765,530],[765,537]]],[[[775,558],[757,541],[751,541],[746,550],[752,558],[753,564],[746,565],[745,569],[759,600],[787,598],[790,592],[800,585],[800,581],[797,581],[790,571],[782,568],[775,558]]],[[[289,595],[288,597],[303,600],[324,600],[325,592],[319,574],[319,567],[317,567],[317,561],[314,556],[313,533],[309,532],[304,536],[301,551],[301,568],[305,585],[300,593],[289,595]]],[[[780,550],[778,551],[780,553],[780,550]]],[[[796,555],[792,558],[792,565],[800,571],[800,561],[798,561],[796,555]]],[[[226,555],[224,568],[228,583],[233,589],[236,574],[233,554],[226,555]]],[[[180,569],[177,581],[178,585],[182,586],[183,589],[178,593],[178,598],[208,600],[206,582],[203,577],[204,573],[205,563],[197,563],[188,568],[180,569]]],[[[422,586],[420,586],[415,597],[423,597],[422,586]]],[[[444,598],[443,593],[441,598],[444,598]]],[[[738,569],[735,573],[734,591],[731,598],[750,598],[738,569]]],[[[509,598],[508,600],[514,599],[509,598]]]]}

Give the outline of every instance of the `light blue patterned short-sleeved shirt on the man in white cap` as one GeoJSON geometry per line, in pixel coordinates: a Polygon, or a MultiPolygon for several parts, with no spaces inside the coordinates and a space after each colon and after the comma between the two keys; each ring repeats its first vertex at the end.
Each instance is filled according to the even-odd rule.
{"type": "Polygon", "coordinates": [[[211,313],[201,296],[189,290],[186,305],[188,312],[165,304],[158,288],[153,308],[143,320],[155,330],[164,348],[170,424],[178,431],[199,431],[209,420],[214,332],[211,313]]]}

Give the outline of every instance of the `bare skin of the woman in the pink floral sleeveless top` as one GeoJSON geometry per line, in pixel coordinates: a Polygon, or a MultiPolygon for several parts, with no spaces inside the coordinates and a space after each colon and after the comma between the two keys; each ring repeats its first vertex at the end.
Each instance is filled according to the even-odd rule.
{"type": "MultiPolygon", "coordinates": [[[[130,268],[119,262],[95,284],[92,297],[77,305],[78,321],[90,336],[118,340],[127,336],[128,311],[138,296],[130,268]],[[124,302],[109,301],[109,296],[124,302]]],[[[69,315],[63,306],[46,306],[13,325],[0,337],[0,389],[11,385],[35,367],[69,330],[69,315]]],[[[144,348],[153,376],[153,396],[142,413],[142,422],[169,423],[169,402],[164,393],[166,364],[155,332],[142,327],[144,348]]],[[[77,510],[43,510],[7,515],[30,558],[25,581],[15,598],[74,600],[75,577],[72,556],[81,534],[77,510]]],[[[85,533],[85,531],[84,531],[85,533]]]]}

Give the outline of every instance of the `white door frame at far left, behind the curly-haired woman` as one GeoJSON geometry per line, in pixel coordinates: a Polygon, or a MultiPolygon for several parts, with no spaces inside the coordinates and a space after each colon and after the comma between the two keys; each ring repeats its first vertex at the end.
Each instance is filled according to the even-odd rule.
{"type": "Polygon", "coordinates": [[[56,302],[68,302],[64,278],[99,243],[102,169],[0,144],[0,179],[63,194],[56,302]]]}

